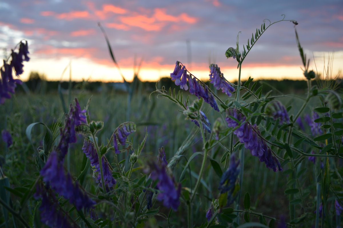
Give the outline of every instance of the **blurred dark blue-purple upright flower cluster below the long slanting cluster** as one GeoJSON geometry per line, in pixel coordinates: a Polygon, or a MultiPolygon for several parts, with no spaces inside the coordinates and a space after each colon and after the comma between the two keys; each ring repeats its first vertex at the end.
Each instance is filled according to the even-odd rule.
{"type": "Polygon", "coordinates": [[[232,193],[235,190],[236,180],[239,174],[239,160],[236,162],[235,156],[231,155],[230,159],[230,166],[228,169],[223,173],[220,183],[219,183],[219,190],[220,193],[223,194],[227,192],[227,206],[233,203],[235,197],[232,193]]]}

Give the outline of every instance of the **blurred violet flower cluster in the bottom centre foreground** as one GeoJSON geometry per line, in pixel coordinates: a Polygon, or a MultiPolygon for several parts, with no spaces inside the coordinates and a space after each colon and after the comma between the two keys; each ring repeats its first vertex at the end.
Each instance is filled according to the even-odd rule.
{"type": "Polygon", "coordinates": [[[174,177],[170,177],[167,174],[165,165],[152,163],[150,165],[150,169],[150,178],[153,180],[158,180],[156,188],[161,191],[158,193],[156,199],[163,201],[164,206],[171,207],[174,211],[176,211],[180,204],[179,197],[181,193],[181,184],[178,184],[178,188],[175,189],[174,177]]]}

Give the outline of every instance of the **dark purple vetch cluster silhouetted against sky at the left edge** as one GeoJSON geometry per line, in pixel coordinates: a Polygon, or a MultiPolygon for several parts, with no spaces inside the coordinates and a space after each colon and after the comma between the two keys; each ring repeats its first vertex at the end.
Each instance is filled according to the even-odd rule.
{"type": "Polygon", "coordinates": [[[16,88],[16,84],[22,84],[23,82],[20,79],[13,79],[12,76],[12,68],[15,71],[15,75],[21,75],[23,70],[23,61],[29,61],[28,54],[28,45],[27,41],[20,42],[19,44],[19,52],[15,52],[12,50],[12,60],[11,63],[8,64],[6,60],[3,60],[3,66],[0,68],[1,71],[1,81],[0,81],[0,104],[5,102],[5,99],[10,99],[11,94],[14,94],[14,90],[16,88]]]}

